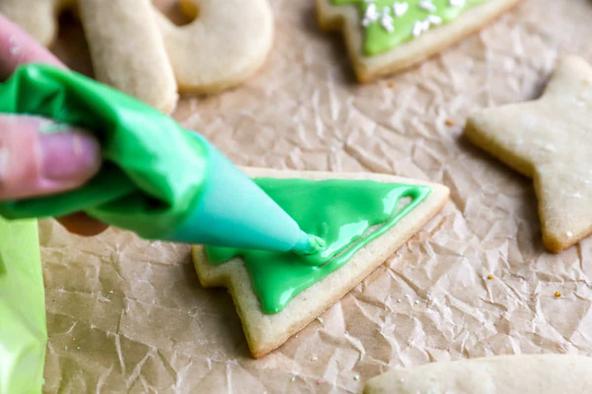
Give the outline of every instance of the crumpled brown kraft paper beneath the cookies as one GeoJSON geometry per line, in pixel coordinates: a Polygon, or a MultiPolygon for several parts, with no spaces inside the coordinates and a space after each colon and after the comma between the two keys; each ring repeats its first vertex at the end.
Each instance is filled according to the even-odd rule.
{"type": "MultiPolygon", "coordinates": [[[[472,110],[536,97],[561,54],[592,61],[592,3],[526,0],[421,66],[360,86],[311,1],[271,2],[266,66],[221,95],[185,97],[175,118],[240,165],[417,177],[448,185],[450,203],[322,323],[260,360],[227,292],[198,284],[188,246],[115,229],[86,239],[44,221],[44,391],[356,393],[394,367],[592,356],[592,238],[545,252],[532,182],[461,137],[472,110]]],[[[79,29],[63,25],[54,50],[88,72],[79,29]]]]}

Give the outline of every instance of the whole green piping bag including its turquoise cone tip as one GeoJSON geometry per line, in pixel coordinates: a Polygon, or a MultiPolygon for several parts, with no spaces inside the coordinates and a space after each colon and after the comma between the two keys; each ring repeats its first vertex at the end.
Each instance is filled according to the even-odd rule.
{"type": "Polygon", "coordinates": [[[84,128],[98,138],[103,157],[81,188],[0,202],[7,219],[84,211],[145,239],[298,254],[324,248],[198,133],[75,71],[19,67],[0,84],[0,112],[84,128]]]}

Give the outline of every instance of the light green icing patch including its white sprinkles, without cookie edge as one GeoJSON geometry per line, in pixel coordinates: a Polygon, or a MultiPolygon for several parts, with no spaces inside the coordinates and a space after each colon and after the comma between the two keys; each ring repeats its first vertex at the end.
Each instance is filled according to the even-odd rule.
{"type": "Polygon", "coordinates": [[[365,30],[363,50],[377,55],[419,37],[435,26],[452,22],[466,9],[485,0],[332,0],[355,4],[365,30]]]}

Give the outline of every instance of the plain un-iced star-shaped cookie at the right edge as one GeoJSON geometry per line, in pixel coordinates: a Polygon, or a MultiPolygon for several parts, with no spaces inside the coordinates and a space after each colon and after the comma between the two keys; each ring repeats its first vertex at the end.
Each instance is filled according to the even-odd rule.
{"type": "Polygon", "coordinates": [[[469,141],[533,178],[543,243],[559,252],[592,233],[592,66],[562,58],[538,100],[485,109],[469,141]]]}

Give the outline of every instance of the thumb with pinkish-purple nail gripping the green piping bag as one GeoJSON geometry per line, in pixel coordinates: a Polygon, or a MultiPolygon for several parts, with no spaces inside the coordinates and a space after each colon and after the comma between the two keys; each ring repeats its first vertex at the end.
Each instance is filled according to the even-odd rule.
{"type": "Polygon", "coordinates": [[[94,137],[79,129],[40,132],[51,126],[43,118],[0,115],[0,201],[70,190],[99,170],[94,137]]]}

